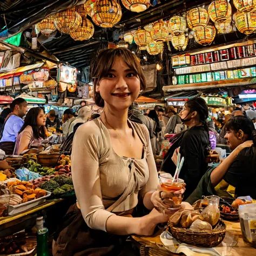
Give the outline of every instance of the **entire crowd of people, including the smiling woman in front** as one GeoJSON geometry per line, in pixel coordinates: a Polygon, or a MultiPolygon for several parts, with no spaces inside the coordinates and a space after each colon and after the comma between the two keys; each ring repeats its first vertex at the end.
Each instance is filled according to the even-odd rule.
{"type": "Polygon", "coordinates": [[[127,235],[151,235],[169,219],[173,192],[161,188],[154,160],[154,155],[163,154],[166,139],[170,149],[160,173],[173,176],[178,154],[184,157],[179,178],[185,184],[174,192],[183,195],[182,207],[223,193],[228,186],[235,187],[235,197],[256,199],[253,105],[232,106],[230,114],[212,119],[199,97],[188,100],[179,113],[174,107],[164,111],[156,106],[144,114],[134,101],[145,89],[145,77],[136,56],[122,48],[99,52],[91,77],[95,103],[103,109],[100,116],[88,106],[81,107],[77,117],[66,110],[63,120],[54,110],[46,117],[40,107],[27,113],[28,104],[21,98],[1,114],[0,148],[6,154],[22,154],[33,142],[46,139],[53,126],[66,137],[64,144],[72,145],[77,203],[56,232],[53,255],[118,255],[127,235]],[[219,162],[216,143],[225,144],[231,153],[212,165],[219,162]]]}

